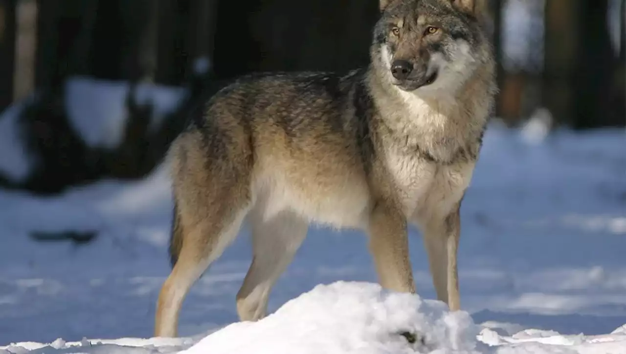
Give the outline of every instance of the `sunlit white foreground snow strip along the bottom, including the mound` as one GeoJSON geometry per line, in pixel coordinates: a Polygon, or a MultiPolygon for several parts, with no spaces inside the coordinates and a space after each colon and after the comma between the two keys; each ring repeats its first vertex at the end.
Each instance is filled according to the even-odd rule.
{"type": "MultiPolygon", "coordinates": [[[[626,328],[610,335],[563,336],[524,330],[502,336],[440,301],[387,293],[372,283],[319,285],[257,323],[234,323],[193,338],[19,343],[8,353],[182,354],[560,354],[623,353],[626,328]]],[[[0,349],[1,353],[1,349],[0,349]]]]}

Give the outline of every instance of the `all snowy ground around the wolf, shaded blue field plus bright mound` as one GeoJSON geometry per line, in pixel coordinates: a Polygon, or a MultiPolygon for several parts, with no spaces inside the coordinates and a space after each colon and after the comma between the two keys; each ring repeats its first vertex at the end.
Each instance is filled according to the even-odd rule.
{"type": "Polygon", "coordinates": [[[538,137],[497,124],[486,134],[462,209],[461,305],[471,318],[426,300],[434,290],[415,230],[423,302],[362,283],[376,277],[360,232],[311,229],[271,296],[270,311],[292,300],[275,316],[199,341],[237,320],[250,262],[239,237],[185,301],[185,338],[135,339],[150,338],[169,271],[165,170],[49,198],[0,190],[0,353],[409,352],[399,330],[442,353],[626,353],[626,330],[616,330],[626,323],[626,133],[538,137]],[[97,237],[33,239],[65,230],[97,237]]]}

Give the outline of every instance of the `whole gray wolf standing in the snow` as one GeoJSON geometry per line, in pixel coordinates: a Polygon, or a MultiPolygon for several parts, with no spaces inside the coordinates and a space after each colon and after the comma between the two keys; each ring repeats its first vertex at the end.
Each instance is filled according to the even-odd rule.
{"type": "Polygon", "coordinates": [[[310,223],[366,231],[379,283],[415,292],[407,227],[423,234],[437,298],[458,310],[461,199],[493,107],[495,65],[475,0],[381,0],[371,63],[237,79],[172,143],[173,269],[155,336],[177,336],[193,283],[249,222],[237,293],[263,318],[310,223]]]}

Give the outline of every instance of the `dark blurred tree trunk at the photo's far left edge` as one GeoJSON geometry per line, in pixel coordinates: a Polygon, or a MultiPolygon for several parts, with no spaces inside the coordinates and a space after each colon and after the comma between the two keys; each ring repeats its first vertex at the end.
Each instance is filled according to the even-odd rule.
{"type": "Polygon", "coordinates": [[[13,102],[16,0],[0,0],[0,112],[13,102]]]}

